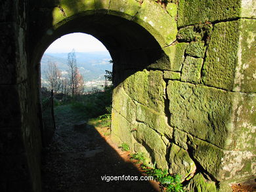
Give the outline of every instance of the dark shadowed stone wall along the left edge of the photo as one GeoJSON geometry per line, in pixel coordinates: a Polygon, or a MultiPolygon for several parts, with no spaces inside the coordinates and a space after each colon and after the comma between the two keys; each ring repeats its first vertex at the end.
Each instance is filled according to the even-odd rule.
{"type": "Polygon", "coordinates": [[[28,2],[0,6],[0,191],[41,191],[37,78],[28,69],[28,2]]]}

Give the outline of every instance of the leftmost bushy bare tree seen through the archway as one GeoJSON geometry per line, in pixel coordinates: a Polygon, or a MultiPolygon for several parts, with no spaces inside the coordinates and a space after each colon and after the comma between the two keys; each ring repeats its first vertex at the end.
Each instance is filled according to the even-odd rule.
{"type": "Polygon", "coordinates": [[[45,79],[54,92],[60,90],[61,76],[61,71],[56,66],[56,63],[48,60],[47,69],[45,70],[45,79]]]}

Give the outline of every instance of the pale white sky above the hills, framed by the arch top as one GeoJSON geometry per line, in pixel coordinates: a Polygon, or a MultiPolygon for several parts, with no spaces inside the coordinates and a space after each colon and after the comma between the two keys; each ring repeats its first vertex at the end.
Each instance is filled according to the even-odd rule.
{"type": "Polygon", "coordinates": [[[56,52],[96,52],[108,51],[104,45],[92,35],[86,33],[70,33],[56,39],[48,48],[45,53],[56,52]]]}

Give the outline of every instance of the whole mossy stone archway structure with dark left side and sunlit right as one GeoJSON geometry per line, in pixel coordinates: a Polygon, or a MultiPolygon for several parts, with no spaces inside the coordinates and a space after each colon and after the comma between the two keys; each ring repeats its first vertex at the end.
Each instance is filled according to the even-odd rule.
{"type": "Polygon", "coordinates": [[[112,139],[232,191],[256,174],[256,1],[1,1],[0,191],[41,191],[40,60],[89,33],[114,60],[112,139]]]}

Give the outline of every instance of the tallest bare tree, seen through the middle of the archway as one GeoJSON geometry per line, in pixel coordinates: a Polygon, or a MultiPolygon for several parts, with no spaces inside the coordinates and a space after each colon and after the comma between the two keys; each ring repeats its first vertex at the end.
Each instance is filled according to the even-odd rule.
{"type": "Polygon", "coordinates": [[[77,62],[75,58],[75,50],[68,53],[68,76],[70,79],[70,89],[72,97],[75,94],[81,94],[83,92],[83,76],[79,73],[77,68],[77,62]]]}

